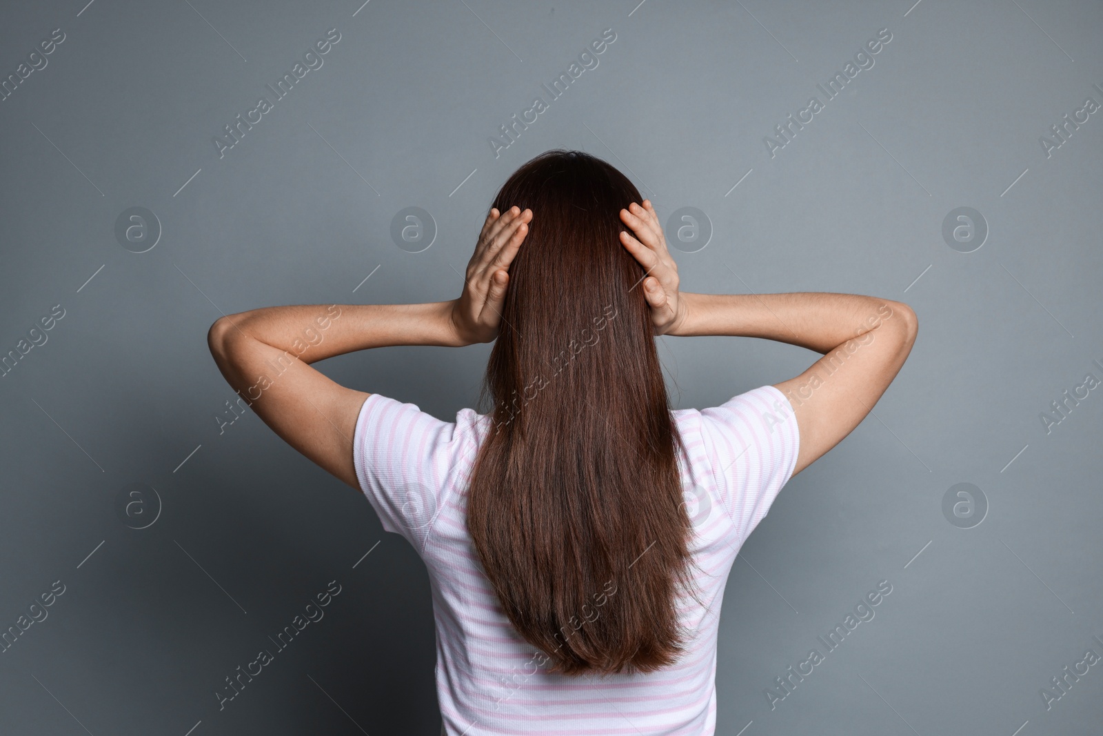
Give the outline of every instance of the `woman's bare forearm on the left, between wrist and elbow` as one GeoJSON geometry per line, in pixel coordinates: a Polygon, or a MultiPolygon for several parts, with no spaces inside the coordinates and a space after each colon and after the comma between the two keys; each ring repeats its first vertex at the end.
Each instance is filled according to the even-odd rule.
{"type": "Polygon", "coordinates": [[[418,305],[297,305],[265,307],[221,320],[231,342],[248,335],[313,363],[387,345],[463,344],[449,318],[452,302],[418,305]]]}

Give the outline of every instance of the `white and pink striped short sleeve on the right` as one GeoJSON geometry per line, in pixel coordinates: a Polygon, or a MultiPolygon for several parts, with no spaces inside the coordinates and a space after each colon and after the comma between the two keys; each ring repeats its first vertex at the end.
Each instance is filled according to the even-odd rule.
{"type": "Polygon", "coordinates": [[[717,492],[742,542],[789,482],[801,447],[796,415],[775,386],[700,410],[700,434],[717,492]]]}

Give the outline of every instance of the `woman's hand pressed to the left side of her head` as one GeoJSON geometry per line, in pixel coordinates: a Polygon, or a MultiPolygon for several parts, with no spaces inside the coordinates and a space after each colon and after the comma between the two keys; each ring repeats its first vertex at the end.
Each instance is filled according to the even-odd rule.
{"type": "Polygon", "coordinates": [[[467,284],[452,301],[451,323],[461,344],[490,342],[502,320],[508,268],[528,233],[533,211],[510,207],[500,214],[491,207],[464,275],[467,284]]]}

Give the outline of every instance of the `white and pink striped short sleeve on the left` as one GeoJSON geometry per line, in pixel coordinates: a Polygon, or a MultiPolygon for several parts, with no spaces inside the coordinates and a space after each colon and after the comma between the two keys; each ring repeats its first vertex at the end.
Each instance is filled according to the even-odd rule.
{"type": "Polygon", "coordinates": [[[353,436],[353,465],[360,488],[379,515],[383,529],[401,534],[419,553],[448,501],[457,469],[475,452],[473,409],[441,422],[379,394],[361,406],[353,436]]]}

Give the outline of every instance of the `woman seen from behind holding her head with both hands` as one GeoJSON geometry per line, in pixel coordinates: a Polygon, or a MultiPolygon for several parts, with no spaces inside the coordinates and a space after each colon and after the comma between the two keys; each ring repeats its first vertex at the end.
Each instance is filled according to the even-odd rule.
{"type": "Polygon", "coordinates": [[[272,307],[211,328],[219,370],[260,418],[363,491],[425,561],[445,733],[714,733],[717,625],[740,545],[785,482],[861,422],[915,339],[912,310],[887,299],[682,292],[640,200],[604,161],[548,151],[497,193],[458,299],[272,307]],[[671,412],[657,334],[767,338],[824,358],[671,412]],[[308,365],[490,341],[492,408],[452,423],[308,365]]]}

